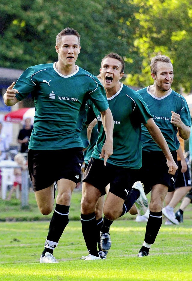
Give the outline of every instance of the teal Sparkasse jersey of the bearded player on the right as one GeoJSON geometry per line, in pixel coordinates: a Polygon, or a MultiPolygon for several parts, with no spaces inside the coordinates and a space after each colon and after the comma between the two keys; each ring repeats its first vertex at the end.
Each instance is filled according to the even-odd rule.
{"type": "MultiPolygon", "coordinates": [[[[177,127],[171,124],[171,110],[180,115],[181,120],[186,126],[191,126],[190,111],[184,97],[172,89],[161,98],[157,98],[149,92],[149,86],[141,90],[137,90],[147,107],[149,108],[155,123],[161,130],[167,141],[170,151],[179,148],[177,139],[177,127]]],[[[145,126],[142,126],[142,147],[145,151],[161,151],[161,148],[154,142],[145,126]]]]}

